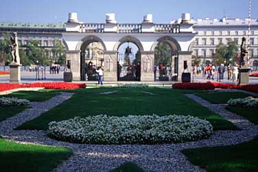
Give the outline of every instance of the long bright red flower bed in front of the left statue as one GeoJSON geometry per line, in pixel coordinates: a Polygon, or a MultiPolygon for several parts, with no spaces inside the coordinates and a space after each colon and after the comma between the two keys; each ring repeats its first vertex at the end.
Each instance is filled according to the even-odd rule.
{"type": "Polygon", "coordinates": [[[84,83],[31,83],[31,84],[8,84],[0,83],[0,92],[9,89],[24,88],[24,87],[44,87],[45,89],[78,89],[85,88],[84,83]]]}

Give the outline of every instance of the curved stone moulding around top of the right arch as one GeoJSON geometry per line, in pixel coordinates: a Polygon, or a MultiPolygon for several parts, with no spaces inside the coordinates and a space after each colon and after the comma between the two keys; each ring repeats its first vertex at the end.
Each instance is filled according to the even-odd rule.
{"type": "Polygon", "coordinates": [[[173,51],[181,51],[181,47],[176,39],[171,36],[163,36],[152,44],[150,51],[154,52],[156,45],[159,43],[167,43],[173,51]]]}

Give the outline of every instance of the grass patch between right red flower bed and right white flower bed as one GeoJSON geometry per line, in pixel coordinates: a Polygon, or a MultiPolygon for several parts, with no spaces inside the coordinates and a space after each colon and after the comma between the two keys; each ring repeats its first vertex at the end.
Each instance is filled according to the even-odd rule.
{"type": "Polygon", "coordinates": [[[225,104],[231,98],[246,98],[250,95],[242,92],[199,92],[196,96],[213,104],[225,104]]]}

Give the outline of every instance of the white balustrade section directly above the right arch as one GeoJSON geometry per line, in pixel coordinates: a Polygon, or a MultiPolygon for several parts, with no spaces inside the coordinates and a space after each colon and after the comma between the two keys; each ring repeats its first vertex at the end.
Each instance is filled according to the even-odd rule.
{"type": "Polygon", "coordinates": [[[180,24],[154,24],[156,33],[180,33],[180,24]]]}

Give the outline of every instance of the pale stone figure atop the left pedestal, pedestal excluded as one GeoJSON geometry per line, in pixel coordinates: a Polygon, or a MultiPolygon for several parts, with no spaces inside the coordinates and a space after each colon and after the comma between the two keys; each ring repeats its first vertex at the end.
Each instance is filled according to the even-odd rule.
{"type": "Polygon", "coordinates": [[[12,63],[20,64],[20,56],[19,56],[19,45],[18,45],[18,36],[17,33],[14,32],[13,36],[10,37],[11,40],[11,54],[12,54],[12,63]]]}

